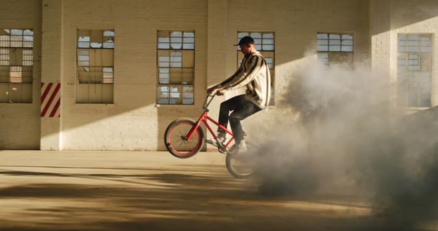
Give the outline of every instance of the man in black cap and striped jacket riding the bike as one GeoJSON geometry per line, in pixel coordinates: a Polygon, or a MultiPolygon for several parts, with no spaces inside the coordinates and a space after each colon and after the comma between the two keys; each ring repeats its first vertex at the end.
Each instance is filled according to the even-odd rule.
{"type": "MultiPolygon", "coordinates": [[[[221,95],[228,90],[237,90],[246,87],[246,94],[241,94],[220,104],[219,124],[227,128],[228,122],[235,138],[237,153],[246,152],[244,131],[240,120],[244,120],[254,113],[266,109],[270,101],[270,72],[268,64],[259,51],[255,50],[254,40],[250,36],[242,38],[238,44],[244,54],[242,64],[229,78],[207,90],[208,94],[215,90],[221,95]],[[231,114],[230,111],[233,111],[231,114]]],[[[218,139],[223,143],[226,139],[225,131],[218,128],[218,139]]],[[[231,150],[234,152],[234,150],[231,150]]]]}

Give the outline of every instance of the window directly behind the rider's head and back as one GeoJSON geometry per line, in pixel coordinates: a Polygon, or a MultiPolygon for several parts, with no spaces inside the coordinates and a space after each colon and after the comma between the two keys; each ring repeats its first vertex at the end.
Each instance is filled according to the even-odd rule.
{"type": "MultiPolygon", "coordinates": [[[[255,49],[265,57],[268,63],[268,68],[271,74],[271,98],[269,105],[274,106],[274,83],[275,83],[275,64],[274,64],[274,32],[237,32],[237,43],[244,36],[251,36],[254,39],[255,49]]],[[[237,46],[237,67],[242,63],[244,55],[240,52],[240,47],[237,46]]]]}

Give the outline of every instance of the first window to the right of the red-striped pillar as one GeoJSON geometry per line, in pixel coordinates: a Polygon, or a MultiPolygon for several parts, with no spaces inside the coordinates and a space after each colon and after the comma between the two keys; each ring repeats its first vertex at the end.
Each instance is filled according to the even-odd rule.
{"type": "Polygon", "coordinates": [[[114,102],[114,30],[77,31],[76,103],[114,102]]]}

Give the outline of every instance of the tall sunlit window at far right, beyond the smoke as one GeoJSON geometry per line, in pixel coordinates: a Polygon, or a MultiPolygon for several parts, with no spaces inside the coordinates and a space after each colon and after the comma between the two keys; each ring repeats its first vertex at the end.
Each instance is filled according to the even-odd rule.
{"type": "Polygon", "coordinates": [[[397,105],[430,107],[432,35],[398,34],[397,105]]]}

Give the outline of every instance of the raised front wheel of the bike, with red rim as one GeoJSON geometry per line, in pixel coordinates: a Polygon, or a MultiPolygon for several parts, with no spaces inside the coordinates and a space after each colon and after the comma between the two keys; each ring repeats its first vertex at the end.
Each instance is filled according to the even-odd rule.
{"type": "Polygon", "coordinates": [[[204,141],[204,133],[198,126],[190,139],[186,139],[189,131],[196,126],[196,122],[190,119],[175,120],[164,133],[164,144],[170,154],[178,158],[193,157],[201,150],[204,141]]]}

